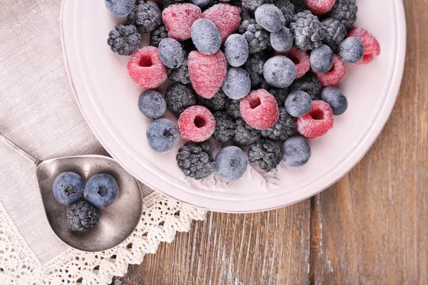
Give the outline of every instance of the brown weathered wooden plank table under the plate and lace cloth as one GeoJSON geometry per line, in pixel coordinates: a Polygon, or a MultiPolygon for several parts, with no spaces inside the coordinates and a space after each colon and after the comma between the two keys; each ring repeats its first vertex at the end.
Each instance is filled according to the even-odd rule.
{"type": "Polygon", "coordinates": [[[426,284],[428,1],[404,5],[399,98],[354,170],[290,207],[210,212],[113,284],[426,284]]]}

